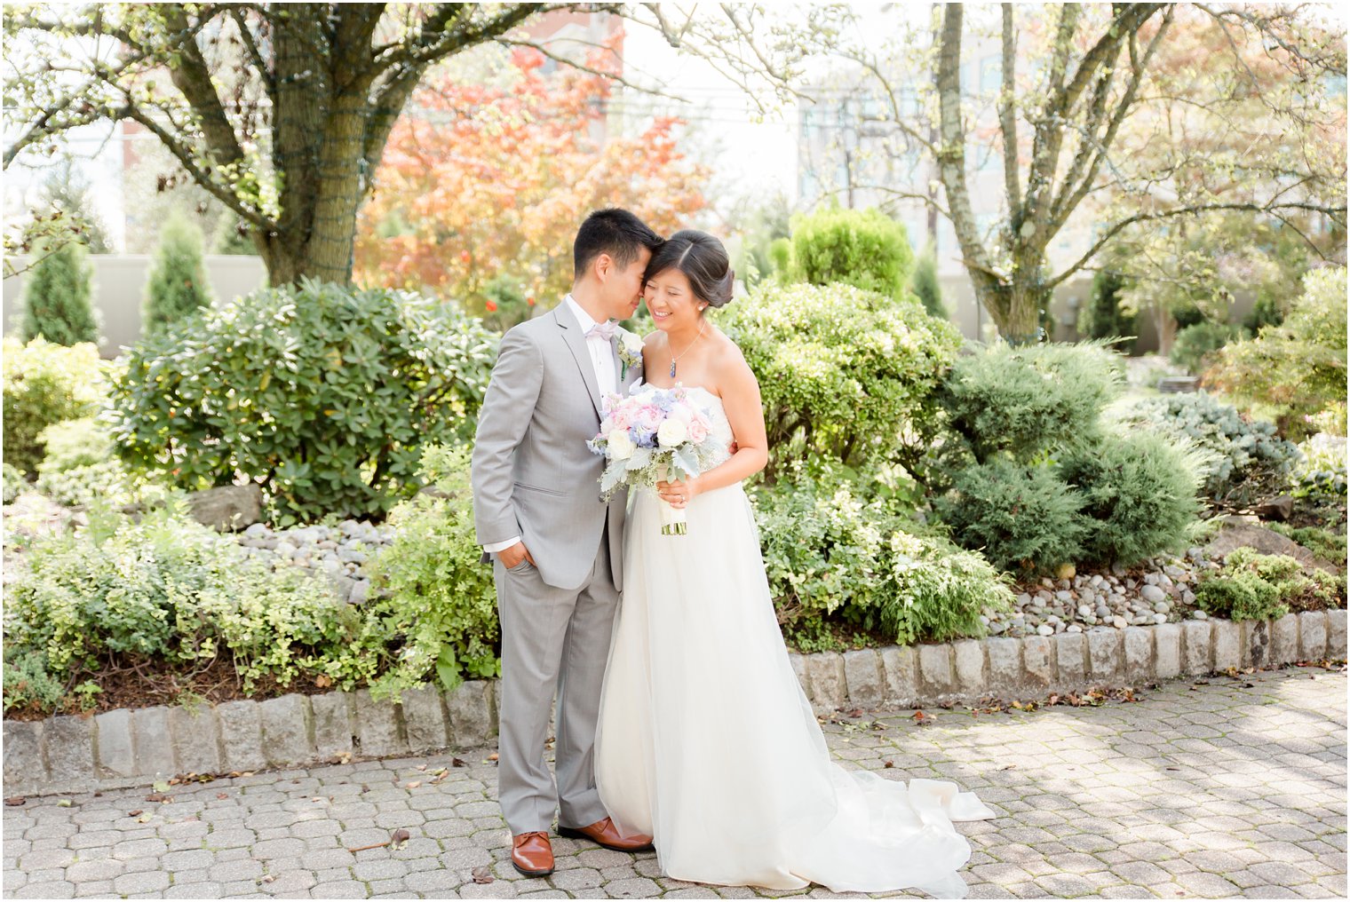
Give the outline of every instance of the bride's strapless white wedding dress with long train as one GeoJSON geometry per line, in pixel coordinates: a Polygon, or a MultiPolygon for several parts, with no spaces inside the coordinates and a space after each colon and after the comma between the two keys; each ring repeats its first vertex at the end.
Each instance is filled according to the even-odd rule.
{"type": "MultiPolygon", "coordinates": [[[[729,447],[721,400],[688,392],[729,447]]],[[[662,871],[680,880],[964,897],[957,871],[971,847],[952,822],[994,813],[954,783],[906,785],[830,760],[741,486],[695,497],[686,536],[662,535],[660,504],[634,493],[625,531],[595,740],[614,824],[652,834],[662,871]]]]}

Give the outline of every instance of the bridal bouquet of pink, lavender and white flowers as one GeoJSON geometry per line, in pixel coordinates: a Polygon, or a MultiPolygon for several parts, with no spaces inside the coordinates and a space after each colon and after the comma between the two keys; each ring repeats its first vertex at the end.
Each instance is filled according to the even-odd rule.
{"type": "MultiPolygon", "coordinates": [[[[707,415],[680,386],[629,397],[612,394],[601,410],[599,432],[586,447],[606,460],[599,478],[606,500],[621,486],[655,489],[663,479],[697,477],[718,451],[707,415]]],[[[662,535],[683,536],[687,531],[684,510],[662,501],[662,535]]]]}

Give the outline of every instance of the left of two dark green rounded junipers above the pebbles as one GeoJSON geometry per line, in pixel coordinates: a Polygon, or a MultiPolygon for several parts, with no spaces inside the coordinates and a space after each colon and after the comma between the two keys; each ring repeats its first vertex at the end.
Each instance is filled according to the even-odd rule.
{"type": "Polygon", "coordinates": [[[1053,570],[1077,560],[1087,541],[1085,498],[1052,462],[994,458],[959,470],[933,509],[963,548],[1000,570],[1053,570]]]}

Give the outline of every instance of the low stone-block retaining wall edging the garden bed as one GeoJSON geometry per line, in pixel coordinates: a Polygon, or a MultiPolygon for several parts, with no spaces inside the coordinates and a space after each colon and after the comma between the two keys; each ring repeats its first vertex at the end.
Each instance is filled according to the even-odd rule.
{"type": "MultiPolygon", "coordinates": [[[[922,708],[983,697],[1040,698],[1088,686],[1127,686],[1230,667],[1346,656],[1346,612],[1274,621],[1188,620],[1022,639],[791,655],[818,712],[922,708]]],[[[4,721],[4,793],[77,791],[329,762],[343,755],[417,755],[490,745],[494,682],[455,691],[405,691],[374,702],[366,690],[282,695],[185,708],[119,709],[94,717],[4,721]]]]}

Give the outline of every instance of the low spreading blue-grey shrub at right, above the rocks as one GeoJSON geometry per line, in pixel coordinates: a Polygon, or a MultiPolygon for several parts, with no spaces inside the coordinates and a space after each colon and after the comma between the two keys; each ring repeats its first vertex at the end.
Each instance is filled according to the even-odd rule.
{"type": "Polygon", "coordinates": [[[1210,452],[1203,490],[1219,505],[1247,505],[1284,489],[1299,450],[1274,424],[1243,416],[1204,392],[1137,402],[1125,421],[1150,425],[1210,452]]]}

